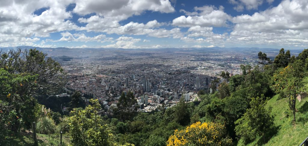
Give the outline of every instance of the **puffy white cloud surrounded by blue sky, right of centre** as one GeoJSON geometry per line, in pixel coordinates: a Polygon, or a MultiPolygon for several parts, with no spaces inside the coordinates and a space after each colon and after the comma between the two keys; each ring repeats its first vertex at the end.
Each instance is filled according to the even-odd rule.
{"type": "Polygon", "coordinates": [[[173,19],[172,25],[179,27],[193,27],[195,25],[222,27],[227,26],[228,20],[232,18],[224,12],[223,6],[219,6],[219,8],[215,6],[194,7],[194,10],[194,12],[180,10],[188,16],[180,16],[173,19]]]}

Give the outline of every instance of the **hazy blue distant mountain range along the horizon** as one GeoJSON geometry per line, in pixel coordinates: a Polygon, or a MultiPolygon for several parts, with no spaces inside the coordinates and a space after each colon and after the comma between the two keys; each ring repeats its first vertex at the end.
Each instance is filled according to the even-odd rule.
{"type": "MultiPolygon", "coordinates": [[[[47,53],[49,56],[100,56],[108,54],[134,54],[134,53],[184,53],[184,52],[265,52],[265,53],[278,53],[280,49],[274,48],[157,48],[157,49],[123,49],[123,48],[41,48],[33,46],[17,46],[17,47],[2,47],[2,51],[9,49],[30,49],[36,48],[37,50],[47,53]]],[[[286,50],[285,50],[286,51],[286,50]]],[[[292,55],[298,55],[303,49],[290,50],[292,55]]]]}

